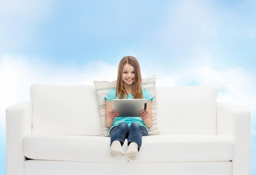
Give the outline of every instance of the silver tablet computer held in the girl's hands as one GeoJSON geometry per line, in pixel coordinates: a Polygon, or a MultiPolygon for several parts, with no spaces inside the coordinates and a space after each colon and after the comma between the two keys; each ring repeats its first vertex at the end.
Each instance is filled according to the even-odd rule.
{"type": "Polygon", "coordinates": [[[140,117],[139,112],[146,109],[146,99],[113,99],[112,109],[119,113],[118,117],[140,117]]]}

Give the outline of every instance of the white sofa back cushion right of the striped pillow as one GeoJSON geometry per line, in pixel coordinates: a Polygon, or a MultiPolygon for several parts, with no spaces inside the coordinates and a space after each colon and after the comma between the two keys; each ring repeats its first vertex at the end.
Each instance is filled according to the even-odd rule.
{"type": "Polygon", "coordinates": [[[214,86],[156,87],[156,96],[161,134],[216,134],[214,86]]]}

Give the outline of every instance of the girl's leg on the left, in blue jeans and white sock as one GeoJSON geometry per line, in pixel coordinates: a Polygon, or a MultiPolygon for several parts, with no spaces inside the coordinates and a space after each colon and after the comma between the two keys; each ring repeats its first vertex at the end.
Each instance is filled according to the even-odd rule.
{"type": "Polygon", "coordinates": [[[126,155],[122,149],[126,133],[128,131],[128,125],[121,123],[110,130],[110,155],[115,157],[116,155],[126,155]]]}

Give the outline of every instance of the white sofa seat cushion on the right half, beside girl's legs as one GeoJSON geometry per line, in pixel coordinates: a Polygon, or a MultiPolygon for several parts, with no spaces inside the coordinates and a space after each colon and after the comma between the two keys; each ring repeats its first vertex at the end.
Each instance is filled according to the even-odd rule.
{"type": "Polygon", "coordinates": [[[230,161],[234,142],[225,136],[191,134],[144,136],[130,162],[230,161]]]}

